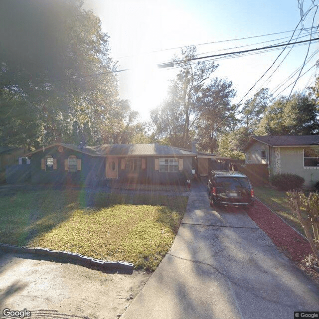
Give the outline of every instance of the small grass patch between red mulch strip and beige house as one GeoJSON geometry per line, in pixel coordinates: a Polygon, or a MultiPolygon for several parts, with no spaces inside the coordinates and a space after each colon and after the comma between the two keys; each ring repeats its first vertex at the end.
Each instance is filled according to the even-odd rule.
{"type": "Polygon", "coordinates": [[[271,210],[282,217],[290,226],[306,236],[301,223],[292,208],[288,204],[286,191],[280,191],[272,187],[255,186],[255,196],[267,205],[271,210]]]}

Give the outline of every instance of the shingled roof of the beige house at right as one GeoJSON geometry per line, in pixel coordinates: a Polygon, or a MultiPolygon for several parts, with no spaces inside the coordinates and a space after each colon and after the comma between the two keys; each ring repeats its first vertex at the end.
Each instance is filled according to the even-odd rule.
{"type": "Polygon", "coordinates": [[[254,140],[270,146],[319,145],[319,135],[252,136],[242,150],[245,151],[254,140]]]}

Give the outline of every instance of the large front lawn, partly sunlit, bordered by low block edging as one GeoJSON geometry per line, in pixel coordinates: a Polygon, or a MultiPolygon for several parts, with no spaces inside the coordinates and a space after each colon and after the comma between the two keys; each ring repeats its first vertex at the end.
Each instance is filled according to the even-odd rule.
{"type": "Polygon", "coordinates": [[[21,192],[0,198],[0,242],[124,260],[154,271],[186,205],[183,196],[21,192]]]}

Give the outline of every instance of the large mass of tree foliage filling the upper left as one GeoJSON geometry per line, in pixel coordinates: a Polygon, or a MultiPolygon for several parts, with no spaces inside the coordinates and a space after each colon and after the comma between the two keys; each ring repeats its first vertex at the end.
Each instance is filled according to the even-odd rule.
{"type": "Polygon", "coordinates": [[[0,145],[127,143],[140,132],[118,97],[109,36],[82,2],[0,2],[0,145]]]}

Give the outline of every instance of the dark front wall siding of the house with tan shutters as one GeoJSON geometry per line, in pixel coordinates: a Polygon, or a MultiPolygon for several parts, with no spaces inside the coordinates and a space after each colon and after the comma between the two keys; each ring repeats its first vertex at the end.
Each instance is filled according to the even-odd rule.
{"type": "MultiPolygon", "coordinates": [[[[52,146],[43,151],[32,154],[31,159],[31,183],[33,184],[55,184],[55,185],[85,185],[85,186],[97,186],[106,184],[106,163],[108,157],[92,157],[82,152],[63,148],[62,152],[58,151],[59,146],[52,146]],[[69,172],[65,170],[64,161],[69,156],[76,156],[77,159],[81,159],[81,170],[69,172]],[[57,168],[51,171],[45,171],[41,169],[41,160],[46,156],[52,156],[56,159],[57,168]]],[[[113,156],[115,158],[116,156],[113,156]]],[[[128,157],[130,159],[133,157],[128,157]]],[[[165,158],[174,158],[172,156],[166,156],[165,158]]],[[[131,182],[152,182],[157,184],[174,183],[181,181],[184,178],[183,171],[191,172],[192,157],[176,157],[183,159],[183,169],[179,172],[160,172],[155,170],[155,159],[159,157],[153,156],[140,156],[134,157],[141,161],[146,160],[146,168],[139,168],[136,171],[130,171],[129,169],[121,168],[121,160],[123,157],[117,157],[118,163],[118,179],[131,182]]]]}

